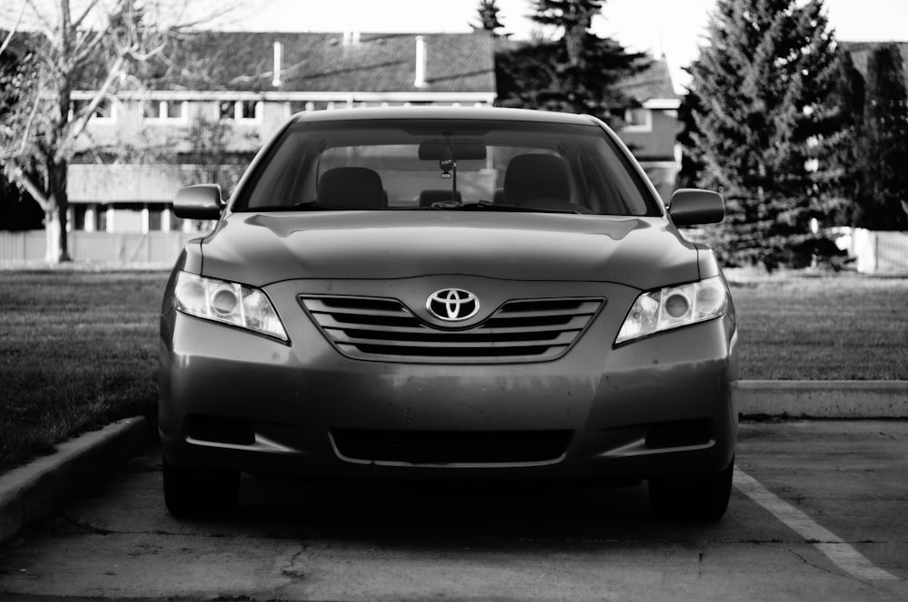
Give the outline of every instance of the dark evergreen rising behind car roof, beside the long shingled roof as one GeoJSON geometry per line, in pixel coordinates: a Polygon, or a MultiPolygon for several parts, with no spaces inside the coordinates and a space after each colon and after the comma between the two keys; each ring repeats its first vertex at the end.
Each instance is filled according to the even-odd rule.
{"type": "Polygon", "coordinates": [[[511,44],[496,57],[499,103],[607,118],[626,99],[616,83],[646,67],[643,53],[627,53],[590,30],[604,0],[537,0],[538,24],[560,37],[511,44]]]}

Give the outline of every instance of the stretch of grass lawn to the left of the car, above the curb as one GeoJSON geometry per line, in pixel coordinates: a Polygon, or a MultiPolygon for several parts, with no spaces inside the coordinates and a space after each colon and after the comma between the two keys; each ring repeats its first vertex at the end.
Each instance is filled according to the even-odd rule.
{"type": "Polygon", "coordinates": [[[153,417],[164,272],[0,272],[0,472],[153,417]]]}

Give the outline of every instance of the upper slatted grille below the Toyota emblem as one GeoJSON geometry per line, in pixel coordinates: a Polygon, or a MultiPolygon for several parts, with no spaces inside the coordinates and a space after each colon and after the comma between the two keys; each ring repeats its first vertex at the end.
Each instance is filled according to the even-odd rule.
{"type": "Polygon", "coordinates": [[[416,363],[541,362],[568,352],[602,307],[602,298],[508,301],[479,325],[428,325],[396,299],[301,296],[302,305],[341,354],[416,363]]]}

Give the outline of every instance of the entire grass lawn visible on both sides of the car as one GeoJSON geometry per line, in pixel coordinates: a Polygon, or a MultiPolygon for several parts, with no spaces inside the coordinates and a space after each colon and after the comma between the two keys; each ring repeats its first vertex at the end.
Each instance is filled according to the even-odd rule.
{"type": "MultiPolygon", "coordinates": [[[[154,418],[161,272],[0,272],[0,472],[154,418]]],[[[733,282],[743,379],[908,380],[908,279],[733,282]]]]}

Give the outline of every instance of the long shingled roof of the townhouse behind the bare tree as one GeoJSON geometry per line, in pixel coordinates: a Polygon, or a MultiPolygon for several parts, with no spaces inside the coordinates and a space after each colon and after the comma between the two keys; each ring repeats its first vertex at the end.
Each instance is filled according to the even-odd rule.
{"type": "Polygon", "coordinates": [[[426,85],[415,85],[415,34],[200,32],[153,67],[157,90],[273,90],[274,43],[285,92],[495,92],[492,38],[423,34],[426,85]]]}

